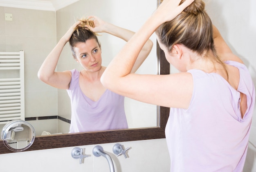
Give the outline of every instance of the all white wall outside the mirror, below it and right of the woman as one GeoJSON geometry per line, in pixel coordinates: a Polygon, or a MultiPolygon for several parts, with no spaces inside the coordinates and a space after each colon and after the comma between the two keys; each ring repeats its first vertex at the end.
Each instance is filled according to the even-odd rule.
{"type": "MultiPolygon", "coordinates": [[[[245,61],[256,85],[256,7],[255,0],[205,0],[207,11],[213,23],[218,27],[222,36],[228,42],[231,49],[245,61]]],[[[256,114],[256,113],[254,113],[256,114]]],[[[252,123],[250,141],[256,145],[256,121],[252,123]]],[[[123,156],[116,157],[112,154],[112,146],[115,143],[102,144],[101,146],[110,153],[117,172],[168,172],[169,157],[165,139],[131,141],[121,143],[129,150],[128,159],[123,156]]],[[[65,147],[50,150],[38,150],[11,154],[0,154],[1,171],[3,172],[70,172],[108,171],[106,159],[94,157],[92,148],[94,145],[85,145],[85,154],[91,155],[85,159],[85,163],[79,165],[79,161],[72,159],[70,152],[74,147],[65,147]],[[100,167],[102,165],[102,168],[100,167]]],[[[255,172],[254,166],[256,149],[249,145],[248,156],[244,172],[255,172]]]]}

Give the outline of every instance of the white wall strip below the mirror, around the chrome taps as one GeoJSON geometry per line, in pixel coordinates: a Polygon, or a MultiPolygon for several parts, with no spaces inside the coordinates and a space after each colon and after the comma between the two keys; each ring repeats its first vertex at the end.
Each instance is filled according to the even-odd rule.
{"type": "MultiPolygon", "coordinates": [[[[131,147],[127,159],[113,154],[115,144],[101,144],[112,157],[115,172],[168,172],[170,169],[165,139],[121,143],[125,148],[131,147]]],[[[74,147],[1,154],[1,172],[108,172],[107,160],[92,154],[94,146],[79,146],[89,155],[82,164],[71,157],[74,147]]]]}

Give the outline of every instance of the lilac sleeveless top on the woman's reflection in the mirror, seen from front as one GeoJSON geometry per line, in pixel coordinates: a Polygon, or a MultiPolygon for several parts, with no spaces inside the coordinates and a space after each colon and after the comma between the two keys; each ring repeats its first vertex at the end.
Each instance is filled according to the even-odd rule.
{"type": "Polygon", "coordinates": [[[127,129],[124,96],[107,89],[98,101],[92,101],[79,87],[80,71],[71,72],[67,89],[72,110],[70,133],[127,129]]]}

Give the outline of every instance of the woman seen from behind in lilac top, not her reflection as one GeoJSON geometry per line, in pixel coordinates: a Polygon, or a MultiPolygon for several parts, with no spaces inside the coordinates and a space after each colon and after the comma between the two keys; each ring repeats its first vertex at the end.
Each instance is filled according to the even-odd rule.
{"type": "Polygon", "coordinates": [[[108,65],[101,82],[117,94],[171,107],[166,125],[171,171],[243,171],[254,85],[201,0],[164,0],[108,65]],[[131,73],[154,31],[166,59],[180,73],[131,73]]]}

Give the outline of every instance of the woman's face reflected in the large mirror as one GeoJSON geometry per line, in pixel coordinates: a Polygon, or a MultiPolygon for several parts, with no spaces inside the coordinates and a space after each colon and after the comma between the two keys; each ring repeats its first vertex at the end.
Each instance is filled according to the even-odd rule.
{"type": "Polygon", "coordinates": [[[86,71],[99,71],[101,69],[101,48],[95,39],[86,42],[79,42],[74,47],[76,61],[80,63],[86,71]]]}

